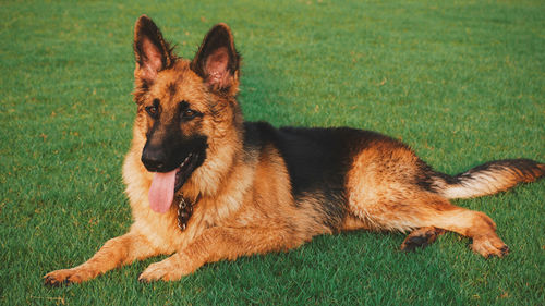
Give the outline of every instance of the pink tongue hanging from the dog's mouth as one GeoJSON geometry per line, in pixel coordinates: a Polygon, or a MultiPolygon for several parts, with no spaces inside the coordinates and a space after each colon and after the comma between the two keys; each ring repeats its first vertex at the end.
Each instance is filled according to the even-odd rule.
{"type": "Polygon", "coordinates": [[[174,198],[175,172],[154,173],[154,180],[149,187],[149,207],[155,212],[165,213],[169,210],[174,198]]]}

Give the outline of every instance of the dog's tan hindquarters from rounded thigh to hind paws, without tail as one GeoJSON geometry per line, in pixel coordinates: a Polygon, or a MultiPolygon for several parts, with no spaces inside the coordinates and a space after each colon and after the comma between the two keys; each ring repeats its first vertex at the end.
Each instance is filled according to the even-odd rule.
{"type": "MultiPolygon", "coordinates": [[[[434,227],[473,240],[472,248],[484,257],[501,257],[507,246],[496,235],[496,224],[480,211],[453,206],[426,181],[433,172],[409,148],[395,142],[377,142],[354,157],[347,174],[349,211],[375,230],[413,231],[434,227]],[[426,179],[427,178],[427,179],[426,179]]],[[[411,234],[402,248],[433,241],[411,234]]]]}

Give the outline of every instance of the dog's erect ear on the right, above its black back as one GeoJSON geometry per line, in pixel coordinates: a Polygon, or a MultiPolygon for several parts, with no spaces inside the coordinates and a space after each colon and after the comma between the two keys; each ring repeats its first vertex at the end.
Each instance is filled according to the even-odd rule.
{"type": "Polygon", "coordinates": [[[213,90],[237,90],[239,65],[240,56],[234,48],[231,29],[227,24],[220,23],[206,34],[191,69],[213,90]]]}

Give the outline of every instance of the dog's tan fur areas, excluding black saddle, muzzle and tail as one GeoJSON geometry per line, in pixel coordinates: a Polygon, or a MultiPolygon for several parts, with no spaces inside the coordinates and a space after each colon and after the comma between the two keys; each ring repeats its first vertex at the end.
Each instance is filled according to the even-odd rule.
{"type": "MultiPolygon", "coordinates": [[[[337,230],[415,230],[403,243],[407,246],[410,238],[420,236],[431,243],[444,229],[472,237],[473,249],[485,257],[507,253],[486,215],[451,205],[448,194],[416,186],[414,178],[422,174],[421,161],[407,146],[387,137],[376,138],[348,161],[346,199],[338,199],[347,201],[347,209],[343,217],[335,217],[341,218],[334,220],[337,228],[325,225],[325,219],[334,218],[322,208],[328,198],[316,192],[295,200],[288,167],[275,146],[244,149],[243,118],[235,99],[239,70],[229,70],[238,62],[223,62],[226,57],[239,58],[229,28],[220,24],[208,36],[223,32],[227,47],[208,52],[203,42],[195,59],[189,61],[171,52],[150,20],[143,16],[136,23],[137,113],[123,163],[133,224],[129,233],[108,241],[83,265],[48,273],[46,283],[83,282],[157,255],[171,256],[150,265],[140,280],[178,280],[206,262],[288,250],[337,230]],[[153,45],[146,33],[157,35],[158,45],[153,45]],[[160,101],[162,125],[154,125],[146,113],[146,107],[156,100],[160,101]],[[177,227],[175,205],[166,213],[150,209],[153,173],[141,161],[147,133],[153,126],[158,126],[158,138],[167,133],[161,128],[175,122],[180,101],[203,113],[181,125],[181,133],[206,135],[208,139],[207,158],[180,191],[189,199],[198,198],[185,231],[177,227]]],[[[438,180],[435,186],[446,188],[447,183],[438,180]]]]}

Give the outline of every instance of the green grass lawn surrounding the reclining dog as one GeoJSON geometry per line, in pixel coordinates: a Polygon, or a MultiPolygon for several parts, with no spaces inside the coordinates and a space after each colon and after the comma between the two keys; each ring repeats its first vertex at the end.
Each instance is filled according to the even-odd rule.
{"type": "Polygon", "coordinates": [[[193,57],[215,23],[243,54],[246,120],[380,131],[439,171],[545,161],[543,1],[8,1],[0,3],[0,304],[544,305],[545,182],[456,200],[510,246],[484,260],[446,234],[319,236],[287,254],[142,284],[160,258],[60,289],[41,277],[124,233],[132,30],[146,13],[193,57]],[[229,2],[229,3],[228,3],[229,2]]]}

